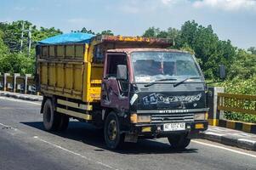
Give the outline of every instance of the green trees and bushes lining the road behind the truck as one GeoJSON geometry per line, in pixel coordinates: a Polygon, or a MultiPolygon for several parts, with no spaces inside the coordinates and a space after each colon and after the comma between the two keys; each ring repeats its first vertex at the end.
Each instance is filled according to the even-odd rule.
{"type": "MultiPolygon", "coordinates": [[[[80,31],[92,34],[114,35],[110,30],[95,33],[83,27],[80,31]]],[[[35,45],[47,37],[61,34],[60,29],[32,25],[29,21],[0,22],[0,72],[32,73],[35,70],[35,45]],[[22,22],[25,29],[32,26],[31,53],[28,54],[28,34],[24,33],[23,46],[20,47],[22,22]]],[[[219,65],[225,65],[227,79],[225,82],[213,83],[224,86],[225,92],[231,94],[256,95],[256,48],[242,49],[232,45],[230,40],[220,40],[212,26],[201,26],[196,21],[186,21],[180,29],[160,30],[150,27],[143,37],[174,38],[170,48],[184,49],[195,54],[202,71],[209,82],[219,81],[219,65]]],[[[239,113],[225,113],[227,119],[256,122],[256,116],[239,113]]]]}

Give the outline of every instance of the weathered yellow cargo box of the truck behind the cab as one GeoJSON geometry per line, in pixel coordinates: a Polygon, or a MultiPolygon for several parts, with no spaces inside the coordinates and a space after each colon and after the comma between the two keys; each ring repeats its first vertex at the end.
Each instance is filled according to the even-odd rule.
{"type": "Polygon", "coordinates": [[[103,65],[91,63],[89,56],[93,49],[88,44],[41,45],[39,48],[37,73],[43,94],[83,102],[100,100],[103,65]]]}

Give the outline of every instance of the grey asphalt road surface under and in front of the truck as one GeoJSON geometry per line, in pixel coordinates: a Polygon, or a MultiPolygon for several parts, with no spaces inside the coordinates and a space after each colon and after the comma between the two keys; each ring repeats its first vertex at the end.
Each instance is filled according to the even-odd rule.
{"type": "Polygon", "coordinates": [[[40,103],[0,97],[0,169],[256,169],[256,153],[196,139],[182,151],[167,139],[108,150],[103,134],[72,121],[65,133],[43,130],[40,103]]]}

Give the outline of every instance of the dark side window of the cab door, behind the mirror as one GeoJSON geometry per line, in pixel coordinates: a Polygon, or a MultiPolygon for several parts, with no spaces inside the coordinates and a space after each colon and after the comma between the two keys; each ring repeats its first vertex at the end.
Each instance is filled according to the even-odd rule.
{"type": "Polygon", "coordinates": [[[117,65],[127,65],[126,55],[108,54],[105,77],[117,77],[117,65]]]}

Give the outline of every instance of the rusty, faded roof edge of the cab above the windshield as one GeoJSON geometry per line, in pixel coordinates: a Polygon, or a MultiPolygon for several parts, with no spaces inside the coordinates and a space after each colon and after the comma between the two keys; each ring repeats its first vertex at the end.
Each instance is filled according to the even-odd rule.
{"type": "Polygon", "coordinates": [[[131,54],[133,52],[145,52],[145,51],[152,51],[152,52],[158,52],[158,51],[163,51],[163,52],[173,52],[173,53],[189,53],[183,50],[178,50],[178,49],[166,49],[166,48],[117,48],[117,49],[109,49],[107,52],[112,52],[112,53],[125,53],[125,54],[131,54]]]}

